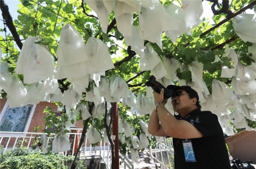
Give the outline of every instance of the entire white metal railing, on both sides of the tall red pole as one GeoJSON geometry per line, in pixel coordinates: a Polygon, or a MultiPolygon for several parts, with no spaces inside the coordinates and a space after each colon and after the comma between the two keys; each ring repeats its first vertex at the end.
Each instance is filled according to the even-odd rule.
{"type": "MultiPolygon", "coordinates": [[[[76,150],[79,145],[81,131],[82,129],[71,129],[74,132],[68,133],[71,143],[71,149],[69,151],[63,152],[61,154],[64,155],[75,155],[76,150]]],[[[43,133],[36,132],[1,132],[0,131],[0,146],[3,146],[4,153],[8,149],[14,149],[19,146],[31,147],[34,143],[35,137],[40,139],[43,133]]],[[[54,133],[50,134],[48,137],[47,143],[48,146],[51,146],[51,142],[54,139],[54,133]]],[[[146,155],[150,158],[154,159],[155,162],[160,163],[164,169],[171,169],[171,160],[170,155],[173,155],[173,146],[172,141],[170,139],[164,138],[164,141],[155,145],[155,148],[152,149],[145,148],[146,155]]],[[[88,142],[87,138],[85,138],[84,143],[81,146],[81,158],[82,157],[90,157],[90,156],[99,156],[107,168],[111,168],[111,148],[109,143],[102,143],[102,141],[95,147],[92,147],[88,142]]],[[[119,154],[120,160],[124,164],[124,168],[134,169],[134,165],[131,160],[127,158],[127,156],[119,154]]]]}

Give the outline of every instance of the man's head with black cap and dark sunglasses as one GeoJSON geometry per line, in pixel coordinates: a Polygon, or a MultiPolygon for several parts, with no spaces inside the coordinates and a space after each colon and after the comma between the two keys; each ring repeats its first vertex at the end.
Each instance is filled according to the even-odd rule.
{"type": "Polygon", "coordinates": [[[191,112],[193,109],[201,109],[198,93],[190,86],[175,86],[169,85],[168,89],[173,89],[175,92],[172,97],[172,106],[175,112],[191,112]]]}

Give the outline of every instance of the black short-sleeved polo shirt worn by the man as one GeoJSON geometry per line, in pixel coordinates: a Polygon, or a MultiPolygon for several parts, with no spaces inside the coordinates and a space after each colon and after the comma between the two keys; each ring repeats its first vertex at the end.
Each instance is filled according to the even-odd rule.
{"type": "Polygon", "coordinates": [[[195,109],[181,119],[195,126],[203,134],[201,138],[192,138],[196,162],[186,162],[182,140],[173,138],[175,169],[231,169],[224,140],[224,134],[218,117],[212,112],[195,109]]]}

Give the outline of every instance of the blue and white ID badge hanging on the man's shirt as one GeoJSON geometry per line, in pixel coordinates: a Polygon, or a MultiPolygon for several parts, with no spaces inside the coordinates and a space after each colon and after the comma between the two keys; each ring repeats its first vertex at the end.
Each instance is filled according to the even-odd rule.
{"type": "Polygon", "coordinates": [[[185,155],[185,161],[186,162],[196,162],[195,160],[195,153],[192,147],[191,140],[183,140],[183,149],[184,149],[184,155],[185,155]]]}

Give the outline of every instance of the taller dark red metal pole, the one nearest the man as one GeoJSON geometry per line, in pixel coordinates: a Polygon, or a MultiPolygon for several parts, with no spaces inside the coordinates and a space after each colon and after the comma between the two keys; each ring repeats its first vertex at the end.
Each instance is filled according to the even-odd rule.
{"type": "Polygon", "coordinates": [[[113,135],[116,136],[115,143],[115,169],[119,169],[119,138],[118,138],[118,114],[117,114],[117,103],[114,103],[113,109],[113,135]]]}

